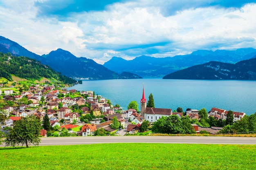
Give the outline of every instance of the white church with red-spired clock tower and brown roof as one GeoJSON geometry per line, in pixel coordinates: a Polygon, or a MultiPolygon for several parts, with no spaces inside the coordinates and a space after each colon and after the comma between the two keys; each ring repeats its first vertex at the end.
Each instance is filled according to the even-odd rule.
{"type": "Polygon", "coordinates": [[[172,115],[172,110],[168,108],[148,108],[146,107],[146,98],[144,95],[144,86],[143,86],[143,93],[142,98],[140,100],[140,113],[141,116],[148,120],[149,122],[155,122],[160,119],[162,116],[170,116],[172,115]]]}

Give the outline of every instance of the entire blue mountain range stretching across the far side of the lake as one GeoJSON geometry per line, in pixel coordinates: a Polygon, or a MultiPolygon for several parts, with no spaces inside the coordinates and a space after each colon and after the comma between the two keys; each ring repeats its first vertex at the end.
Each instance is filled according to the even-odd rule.
{"type": "MultiPolygon", "coordinates": [[[[142,77],[175,77],[179,79],[235,79],[236,77],[236,79],[253,79],[253,75],[249,75],[252,70],[242,73],[246,69],[242,69],[236,63],[256,56],[256,49],[253,48],[216,51],[198,50],[188,55],[163,58],[142,55],[135,57],[133,60],[124,60],[121,57],[112,57],[111,60],[101,65],[85,57],[76,57],[63,49],[57,49],[47,55],[40,56],[2,36],[0,36],[0,52],[30,57],[68,77],[87,79],[134,79],[142,77]],[[239,66],[239,68],[236,68],[236,66],[239,66]],[[218,70],[218,67],[222,70],[218,70]],[[198,70],[194,70],[194,68],[198,70]],[[214,71],[206,68],[214,68],[214,71]],[[241,68],[241,73],[237,74],[231,68],[236,71],[241,68]],[[228,73],[223,70],[228,70],[228,73]],[[193,75],[193,73],[198,73],[198,76],[193,75]],[[222,75],[226,75],[226,77],[222,75]]],[[[254,63],[245,61],[245,65],[254,63]]],[[[246,67],[252,69],[251,65],[246,67]]]]}

